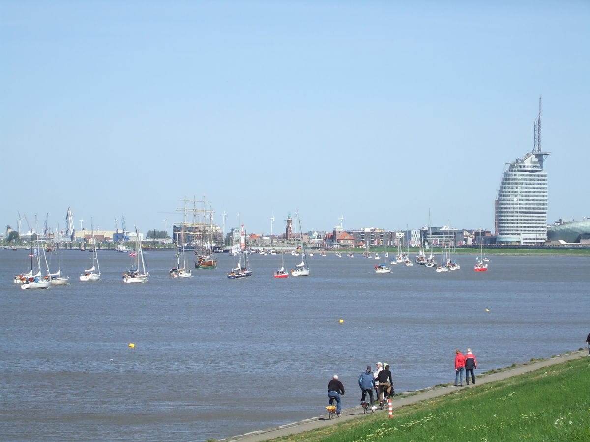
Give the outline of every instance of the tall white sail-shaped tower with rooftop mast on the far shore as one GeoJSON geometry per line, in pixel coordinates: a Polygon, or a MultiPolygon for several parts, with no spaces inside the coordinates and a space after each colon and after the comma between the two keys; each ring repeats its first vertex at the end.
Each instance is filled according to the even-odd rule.
{"type": "Polygon", "coordinates": [[[541,150],[541,99],[535,122],[535,146],[508,164],[496,200],[496,243],[542,245],[547,239],[547,174],[541,150]]]}

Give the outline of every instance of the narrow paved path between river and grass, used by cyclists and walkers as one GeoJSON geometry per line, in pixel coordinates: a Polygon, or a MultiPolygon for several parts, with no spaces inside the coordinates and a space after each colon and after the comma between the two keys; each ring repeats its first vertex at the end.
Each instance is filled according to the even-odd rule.
{"type": "MultiPolygon", "coordinates": [[[[510,378],[519,374],[523,374],[529,371],[538,370],[539,368],[549,367],[550,365],[560,364],[561,362],[570,361],[571,359],[576,359],[582,356],[588,355],[588,351],[575,351],[572,353],[568,353],[565,355],[559,355],[555,358],[543,359],[543,361],[538,362],[530,362],[526,365],[519,365],[514,368],[510,368],[501,372],[497,373],[490,373],[485,375],[480,375],[477,377],[477,385],[486,384],[487,382],[499,381],[502,379],[510,378]]],[[[435,397],[439,397],[445,394],[450,394],[453,391],[461,390],[462,388],[472,388],[472,385],[468,387],[432,387],[427,388],[426,390],[422,390],[417,394],[402,397],[396,396],[392,401],[392,405],[395,408],[401,408],[405,405],[412,405],[416,404],[420,401],[432,399],[435,397]]],[[[383,410],[383,413],[387,413],[386,410],[383,410]]],[[[314,430],[314,428],[321,428],[325,427],[326,425],[332,425],[337,422],[342,422],[346,420],[351,420],[358,418],[359,416],[363,415],[362,407],[352,407],[352,408],[343,408],[342,415],[337,419],[329,420],[326,414],[322,416],[312,417],[310,419],[306,419],[300,422],[294,422],[291,424],[281,425],[280,427],[275,428],[267,428],[266,430],[260,431],[253,431],[251,433],[241,434],[240,436],[232,436],[225,439],[222,439],[225,442],[258,442],[263,440],[269,440],[280,436],[287,436],[287,434],[296,434],[301,433],[303,431],[314,430]]]]}

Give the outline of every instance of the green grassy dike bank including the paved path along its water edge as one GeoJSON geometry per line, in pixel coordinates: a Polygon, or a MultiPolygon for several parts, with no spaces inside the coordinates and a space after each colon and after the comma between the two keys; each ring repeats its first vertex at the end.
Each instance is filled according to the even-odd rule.
{"type": "Polygon", "coordinates": [[[387,410],[363,415],[358,407],[345,408],[340,419],[313,418],[229,440],[590,441],[587,354],[578,351],[489,372],[469,387],[437,385],[396,397],[391,419],[387,410]],[[277,438],[281,433],[288,436],[277,438]]]}

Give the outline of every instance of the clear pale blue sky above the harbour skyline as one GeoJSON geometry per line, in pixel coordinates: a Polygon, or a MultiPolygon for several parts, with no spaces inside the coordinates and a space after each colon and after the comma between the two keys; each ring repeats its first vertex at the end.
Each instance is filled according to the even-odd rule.
{"type": "Polygon", "coordinates": [[[297,209],[493,229],[539,96],[548,222],[582,219],[588,23],[586,1],[2,1],[2,222],[171,230],[205,197],[249,232],[297,209]]]}

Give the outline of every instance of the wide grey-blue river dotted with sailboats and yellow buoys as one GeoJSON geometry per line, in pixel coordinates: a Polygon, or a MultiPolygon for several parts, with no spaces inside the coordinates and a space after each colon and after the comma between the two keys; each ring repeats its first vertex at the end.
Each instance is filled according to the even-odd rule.
{"type": "Polygon", "coordinates": [[[316,254],[310,276],[274,279],[280,256],[254,255],[242,280],[225,277],[230,255],[190,279],[168,275],[173,252],[145,258],[145,284],[122,283],[130,258],[115,252],[83,283],[91,253],[66,250],[70,285],[21,290],[28,251],[0,251],[2,440],[224,438],[323,414],[333,374],[346,409],[378,361],[413,391],[454,381],[455,348],[471,347],[477,374],[577,350],[590,332],[590,256],[376,274],[375,260],[316,254]]]}

